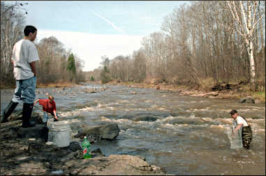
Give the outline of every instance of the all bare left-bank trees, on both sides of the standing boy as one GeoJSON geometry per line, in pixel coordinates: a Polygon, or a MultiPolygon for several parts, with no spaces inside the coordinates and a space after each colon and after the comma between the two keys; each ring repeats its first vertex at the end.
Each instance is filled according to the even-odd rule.
{"type": "MultiPolygon", "coordinates": [[[[27,11],[22,7],[26,4],[6,4],[5,1],[1,1],[1,85],[15,85],[10,58],[13,45],[24,37],[24,15],[27,15],[27,11]]],[[[71,50],[66,51],[63,43],[57,38],[43,38],[36,47],[40,57],[36,65],[38,84],[84,81],[84,62],[71,53],[71,50]]]]}

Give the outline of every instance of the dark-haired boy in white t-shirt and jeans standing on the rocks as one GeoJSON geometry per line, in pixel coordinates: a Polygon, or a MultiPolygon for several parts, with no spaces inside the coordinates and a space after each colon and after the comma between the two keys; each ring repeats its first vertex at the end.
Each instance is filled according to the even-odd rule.
{"type": "Polygon", "coordinates": [[[15,110],[17,104],[23,102],[22,127],[35,126],[30,119],[36,96],[36,61],[39,60],[38,50],[34,44],[36,36],[36,27],[26,26],[24,28],[24,38],[15,43],[13,47],[11,62],[14,66],[13,73],[16,87],[12,100],[3,110],[1,123],[7,122],[8,117],[15,110]]]}

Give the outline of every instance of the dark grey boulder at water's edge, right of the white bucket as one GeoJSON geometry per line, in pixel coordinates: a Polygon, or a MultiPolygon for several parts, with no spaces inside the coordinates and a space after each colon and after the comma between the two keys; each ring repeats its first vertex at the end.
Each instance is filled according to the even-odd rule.
{"type": "Polygon", "coordinates": [[[119,131],[119,127],[116,123],[105,124],[84,128],[78,131],[77,135],[75,135],[75,138],[83,139],[85,135],[96,135],[101,139],[114,140],[119,135],[119,131]]]}

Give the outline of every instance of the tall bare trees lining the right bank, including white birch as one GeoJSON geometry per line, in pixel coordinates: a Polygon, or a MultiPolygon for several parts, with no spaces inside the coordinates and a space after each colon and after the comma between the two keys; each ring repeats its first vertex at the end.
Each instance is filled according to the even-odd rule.
{"type": "Polygon", "coordinates": [[[265,1],[191,1],[165,16],[161,31],[142,38],[131,56],[105,60],[89,78],[200,87],[250,82],[265,90],[265,1]]]}

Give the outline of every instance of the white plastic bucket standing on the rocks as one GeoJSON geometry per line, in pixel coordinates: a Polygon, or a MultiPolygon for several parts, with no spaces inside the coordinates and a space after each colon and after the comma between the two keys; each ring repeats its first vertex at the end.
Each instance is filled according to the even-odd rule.
{"type": "Polygon", "coordinates": [[[70,143],[71,126],[67,121],[47,123],[49,129],[48,141],[53,142],[57,147],[68,147],[70,143]]]}

